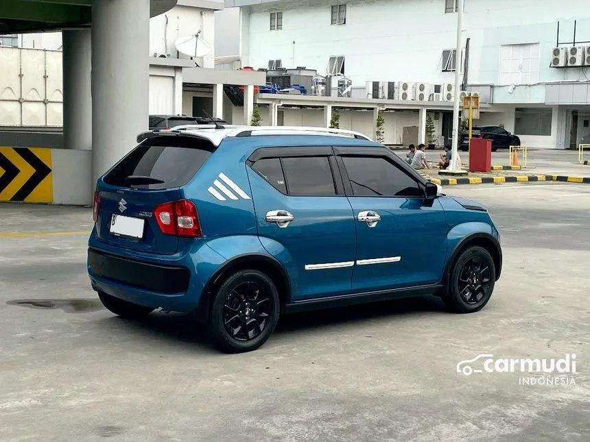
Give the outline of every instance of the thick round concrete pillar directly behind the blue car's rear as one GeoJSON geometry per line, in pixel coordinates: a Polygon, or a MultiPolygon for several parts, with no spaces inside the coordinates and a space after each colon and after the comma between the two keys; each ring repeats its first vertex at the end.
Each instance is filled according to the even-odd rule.
{"type": "Polygon", "coordinates": [[[92,179],[148,129],[150,0],[92,3],[92,179]]]}

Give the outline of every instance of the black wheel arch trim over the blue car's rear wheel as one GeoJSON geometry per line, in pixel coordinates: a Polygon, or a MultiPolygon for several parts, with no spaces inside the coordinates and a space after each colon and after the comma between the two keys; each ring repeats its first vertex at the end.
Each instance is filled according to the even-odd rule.
{"type": "Polygon", "coordinates": [[[240,270],[258,270],[266,275],[276,285],[276,289],[279,292],[279,301],[281,302],[281,313],[283,307],[291,299],[291,280],[287,271],[281,263],[265,254],[259,253],[248,253],[238,256],[234,256],[230,260],[224,262],[209,278],[207,284],[205,284],[202,295],[199,300],[199,319],[202,322],[207,322],[211,315],[211,301],[215,297],[216,288],[222,284],[228,275],[235,273],[240,270]]]}

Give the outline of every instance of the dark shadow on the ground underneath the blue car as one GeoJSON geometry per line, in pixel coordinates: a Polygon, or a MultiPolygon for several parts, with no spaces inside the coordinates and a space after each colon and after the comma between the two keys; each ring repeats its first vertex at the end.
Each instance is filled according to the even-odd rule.
{"type": "MultiPolygon", "coordinates": [[[[443,303],[434,296],[394,299],[386,302],[372,302],[353,306],[329,308],[283,315],[274,334],[281,339],[288,339],[290,334],[314,329],[342,326],[344,324],[361,325],[374,319],[395,319],[401,315],[440,313],[446,314],[443,303]]],[[[138,321],[108,317],[103,320],[106,328],[127,329],[130,334],[139,332],[152,339],[165,339],[178,345],[198,345],[205,351],[213,349],[207,338],[206,326],[196,323],[191,315],[181,313],[154,312],[138,321]]],[[[272,339],[272,338],[271,338],[272,339]]]]}

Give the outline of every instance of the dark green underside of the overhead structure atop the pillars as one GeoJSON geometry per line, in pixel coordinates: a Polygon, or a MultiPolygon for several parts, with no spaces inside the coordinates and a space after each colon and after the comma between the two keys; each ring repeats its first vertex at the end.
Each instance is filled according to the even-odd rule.
{"type": "MultiPolygon", "coordinates": [[[[150,16],[163,14],[177,0],[150,0],[150,16]]],[[[93,0],[0,0],[0,35],[88,27],[93,0]]]]}

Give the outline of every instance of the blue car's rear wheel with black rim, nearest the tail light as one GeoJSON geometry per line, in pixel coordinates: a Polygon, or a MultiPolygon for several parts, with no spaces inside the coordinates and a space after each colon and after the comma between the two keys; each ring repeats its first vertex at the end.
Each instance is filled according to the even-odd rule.
{"type": "Polygon", "coordinates": [[[226,353],[252,352],[274,332],[279,311],[279,291],[268,275],[257,270],[237,271],[215,294],[209,338],[226,353]]]}

